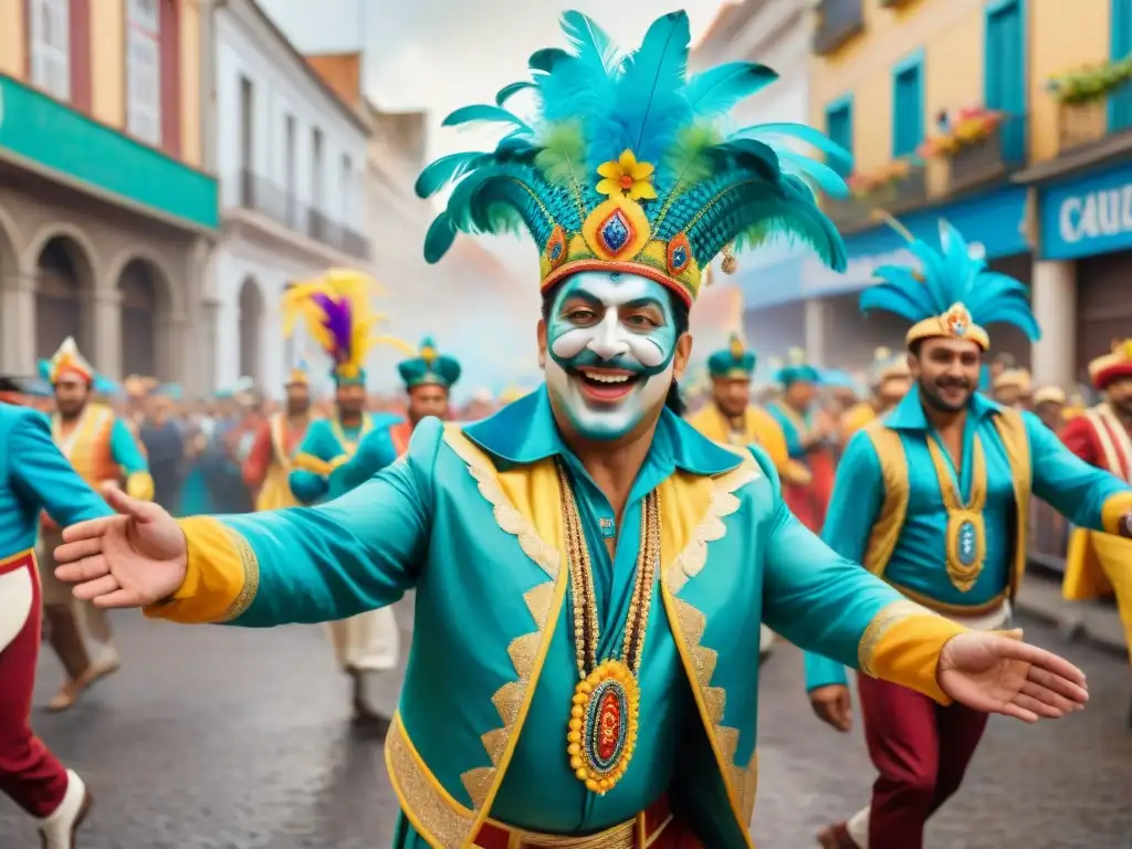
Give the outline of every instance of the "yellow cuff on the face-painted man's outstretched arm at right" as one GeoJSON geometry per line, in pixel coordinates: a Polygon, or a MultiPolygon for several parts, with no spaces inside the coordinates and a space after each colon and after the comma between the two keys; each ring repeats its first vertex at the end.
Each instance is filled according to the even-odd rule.
{"type": "Polygon", "coordinates": [[[915,602],[894,601],[873,617],[860,638],[860,670],[950,704],[936,680],[940,653],[949,640],[967,631],[915,602]]]}

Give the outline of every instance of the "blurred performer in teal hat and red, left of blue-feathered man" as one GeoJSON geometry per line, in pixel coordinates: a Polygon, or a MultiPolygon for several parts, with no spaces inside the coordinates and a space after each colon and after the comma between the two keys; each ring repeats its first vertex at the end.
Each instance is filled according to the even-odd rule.
{"type": "Polygon", "coordinates": [[[815,533],[822,530],[825,508],[833,491],[833,454],[831,440],[837,423],[821,409],[812,409],[817,401],[821,372],[806,362],[806,352],[791,349],[789,362],[775,376],[782,395],[771,402],[766,411],[774,417],[786,436],[791,460],[799,462],[809,473],[808,482],[782,481],[782,495],[790,509],[806,528],[815,533]]]}

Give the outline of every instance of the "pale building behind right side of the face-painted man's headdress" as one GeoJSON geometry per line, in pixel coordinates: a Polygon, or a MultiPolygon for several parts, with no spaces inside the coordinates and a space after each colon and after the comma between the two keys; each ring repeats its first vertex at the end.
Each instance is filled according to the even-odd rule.
{"type": "MultiPolygon", "coordinates": [[[[693,51],[693,68],[723,62],[760,62],[773,68],[779,78],[744,101],[735,112],[736,127],[788,121],[809,123],[809,48],[813,15],[801,0],[740,0],[724,6],[693,51]]],[[[760,286],[760,268],[779,263],[798,263],[805,251],[788,246],[770,246],[739,257],[735,281],[744,290],[745,328],[760,359],[783,355],[790,348],[811,344],[820,361],[821,334],[807,334],[816,326],[820,305],[792,300],[780,302],[778,292],[760,286]],[[815,312],[809,316],[809,312],[815,312]]],[[[721,280],[717,273],[717,280],[721,280]]],[[[722,278],[726,281],[726,278],[722,278]]]]}

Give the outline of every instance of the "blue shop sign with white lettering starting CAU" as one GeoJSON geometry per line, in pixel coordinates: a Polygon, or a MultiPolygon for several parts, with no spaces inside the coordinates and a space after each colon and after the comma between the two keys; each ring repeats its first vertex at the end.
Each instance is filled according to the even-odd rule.
{"type": "Polygon", "coordinates": [[[1043,258],[1132,248],[1132,164],[1053,183],[1038,197],[1043,258]]]}

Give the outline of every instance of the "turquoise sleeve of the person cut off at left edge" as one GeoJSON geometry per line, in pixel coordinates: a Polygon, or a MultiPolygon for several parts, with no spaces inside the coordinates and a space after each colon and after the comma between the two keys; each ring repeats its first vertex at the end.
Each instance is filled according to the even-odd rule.
{"type": "Polygon", "coordinates": [[[20,411],[8,435],[7,452],[15,489],[36,513],[46,511],[60,528],[113,513],[60,454],[42,413],[20,411]]]}

